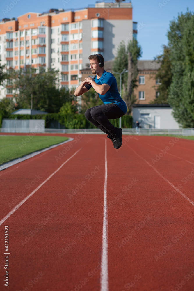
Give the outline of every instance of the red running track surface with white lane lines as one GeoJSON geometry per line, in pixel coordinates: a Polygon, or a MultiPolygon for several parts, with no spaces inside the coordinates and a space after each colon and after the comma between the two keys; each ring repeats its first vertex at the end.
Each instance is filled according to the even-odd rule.
{"type": "MultiPolygon", "coordinates": [[[[100,291],[106,136],[65,136],[77,142],[58,161],[69,143],[0,172],[1,220],[79,150],[0,226],[0,290],[100,291]]],[[[194,290],[193,144],[123,136],[115,150],[107,140],[109,291],[194,290]]]]}

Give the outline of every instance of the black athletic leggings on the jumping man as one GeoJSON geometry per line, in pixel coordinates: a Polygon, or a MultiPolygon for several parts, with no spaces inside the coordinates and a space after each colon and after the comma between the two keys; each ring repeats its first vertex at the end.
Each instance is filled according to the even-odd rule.
{"type": "Polygon", "coordinates": [[[101,129],[108,135],[113,135],[116,131],[109,119],[116,119],[123,116],[125,113],[114,103],[98,105],[89,108],[85,112],[86,118],[96,127],[101,129]]]}

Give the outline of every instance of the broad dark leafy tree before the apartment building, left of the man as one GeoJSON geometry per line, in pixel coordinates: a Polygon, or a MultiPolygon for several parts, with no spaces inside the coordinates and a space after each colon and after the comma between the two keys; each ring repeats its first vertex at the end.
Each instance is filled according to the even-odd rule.
{"type": "Polygon", "coordinates": [[[19,72],[13,71],[13,88],[16,90],[14,98],[17,108],[31,108],[31,97],[33,109],[58,113],[63,103],[69,101],[69,91],[62,88],[59,90],[58,70],[27,67],[19,72]]]}

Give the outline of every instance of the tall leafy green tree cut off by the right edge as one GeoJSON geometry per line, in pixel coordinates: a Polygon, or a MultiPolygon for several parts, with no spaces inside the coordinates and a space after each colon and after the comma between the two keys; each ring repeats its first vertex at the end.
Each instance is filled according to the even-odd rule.
{"type": "Polygon", "coordinates": [[[185,14],[171,21],[168,46],[172,63],[172,83],[168,103],[182,127],[194,127],[194,15],[185,14]]]}

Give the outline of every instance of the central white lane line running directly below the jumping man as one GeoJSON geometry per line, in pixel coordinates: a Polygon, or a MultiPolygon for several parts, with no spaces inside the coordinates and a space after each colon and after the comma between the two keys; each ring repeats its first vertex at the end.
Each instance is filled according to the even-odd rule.
{"type": "Polygon", "coordinates": [[[108,291],[108,218],[107,218],[107,146],[105,139],[105,175],[104,175],[104,216],[102,230],[102,257],[101,257],[101,273],[100,273],[100,291],[108,291]]]}

